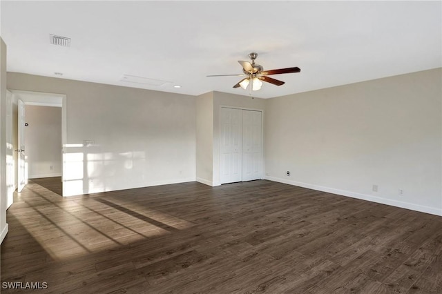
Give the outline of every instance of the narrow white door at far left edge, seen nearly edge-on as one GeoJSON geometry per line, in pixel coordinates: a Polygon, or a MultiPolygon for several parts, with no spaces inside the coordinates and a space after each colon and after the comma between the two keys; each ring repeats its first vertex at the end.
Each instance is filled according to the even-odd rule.
{"type": "Polygon", "coordinates": [[[6,93],[6,208],[14,201],[15,168],[12,144],[12,94],[6,93]]]}

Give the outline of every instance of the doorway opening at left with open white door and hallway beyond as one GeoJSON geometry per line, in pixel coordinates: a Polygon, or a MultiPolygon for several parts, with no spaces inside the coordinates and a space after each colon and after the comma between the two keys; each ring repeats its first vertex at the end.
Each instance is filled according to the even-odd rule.
{"type": "MultiPolygon", "coordinates": [[[[13,146],[14,175],[9,177],[15,178],[17,192],[21,192],[28,177],[58,177],[62,182],[63,146],[67,138],[66,95],[23,90],[9,92],[14,114],[10,131],[17,133],[13,146]]],[[[13,201],[13,190],[12,193],[8,190],[8,204],[12,204],[10,199],[13,201]]]]}

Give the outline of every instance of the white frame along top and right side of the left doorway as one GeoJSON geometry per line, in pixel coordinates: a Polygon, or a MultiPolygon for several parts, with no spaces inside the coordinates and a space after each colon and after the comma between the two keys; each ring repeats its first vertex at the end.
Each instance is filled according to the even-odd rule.
{"type": "Polygon", "coordinates": [[[24,91],[24,90],[9,90],[14,99],[20,99],[26,105],[35,106],[52,106],[61,107],[61,181],[63,181],[64,175],[64,146],[66,146],[67,141],[67,124],[66,124],[66,95],[47,93],[47,92],[34,92],[34,91],[24,91]]]}

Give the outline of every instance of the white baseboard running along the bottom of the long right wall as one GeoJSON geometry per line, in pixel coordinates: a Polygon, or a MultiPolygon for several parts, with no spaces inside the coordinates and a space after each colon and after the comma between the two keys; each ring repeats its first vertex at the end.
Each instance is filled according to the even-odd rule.
{"type": "Polygon", "coordinates": [[[327,193],[333,193],[333,194],[352,197],[352,198],[356,198],[356,199],[367,200],[367,201],[376,202],[376,203],[380,203],[380,204],[386,204],[386,205],[396,206],[396,207],[400,207],[400,208],[416,210],[421,213],[430,213],[431,215],[442,216],[441,209],[433,208],[430,206],[423,206],[423,205],[414,204],[414,203],[410,203],[410,202],[402,202],[402,201],[398,201],[398,200],[394,200],[394,199],[387,199],[387,198],[383,198],[383,197],[376,197],[373,195],[355,193],[355,192],[351,192],[351,191],[347,191],[347,190],[339,190],[339,189],[329,188],[329,187],[325,187],[325,186],[318,186],[318,185],[314,185],[314,184],[296,182],[296,181],[291,181],[289,179],[280,179],[278,177],[267,176],[267,177],[265,177],[265,179],[268,179],[269,181],[273,181],[273,182],[279,182],[279,183],[289,184],[289,185],[293,185],[293,186],[299,186],[302,188],[309,188],[312,190],[319,190],[319,191],[323,191],[323,192],[327,192],[327,193]]]}

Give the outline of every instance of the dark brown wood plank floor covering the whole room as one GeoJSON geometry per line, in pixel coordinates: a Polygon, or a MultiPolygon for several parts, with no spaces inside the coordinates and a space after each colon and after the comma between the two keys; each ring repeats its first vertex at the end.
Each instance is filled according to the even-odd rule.
{"type": "Polygon", "coordinates": [[[66,198],[59,185],[37,179],[15,197],[1,282],[47,282],[39,293],[442,293],[442,217],[268,181],[66,198]]]}

